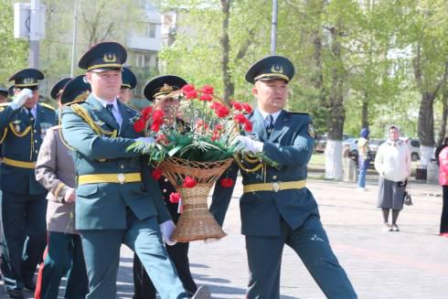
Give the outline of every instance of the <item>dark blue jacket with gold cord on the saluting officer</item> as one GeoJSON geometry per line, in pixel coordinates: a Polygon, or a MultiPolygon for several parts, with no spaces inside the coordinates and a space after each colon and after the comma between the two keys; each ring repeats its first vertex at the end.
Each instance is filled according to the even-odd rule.
{"type": "Polygon", "coordinates": [[[30,120],[27,110],[13,110],[8,104],[0,106],[0,144],[3,144],[1,189],[16,194],[47,193],[37,181],[33,163],[48,128],[55,125],[55,111],[37,103],[36,120],[30,120]],[[7,163],[7,160],[10,163],[7,163]],[[12,162],[11,162],[12,161],[12,162]],[[21,163],[25,162],[25,167],[21,163]]]}

